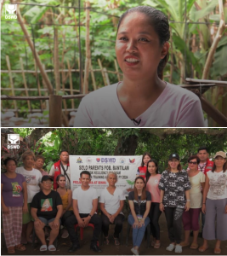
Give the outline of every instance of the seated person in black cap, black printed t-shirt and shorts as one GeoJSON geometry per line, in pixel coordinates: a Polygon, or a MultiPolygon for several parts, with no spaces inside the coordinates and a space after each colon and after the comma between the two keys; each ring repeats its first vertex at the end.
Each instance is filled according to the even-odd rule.
{"type": "Polygon", "coordinates": [[[42,242],[40,251],[56,251],[54,240],[59,234],[60,217],[63,211],[62,201],[58,192],[51,190],[53,178],[47,175],[42,177],[43,190],[38,192],[31,201],[31,216],[35,219],[34,228],[37,237],[42,242]],[[44,227],[51,228],[49,243],[45,241],[44,227]]]}

